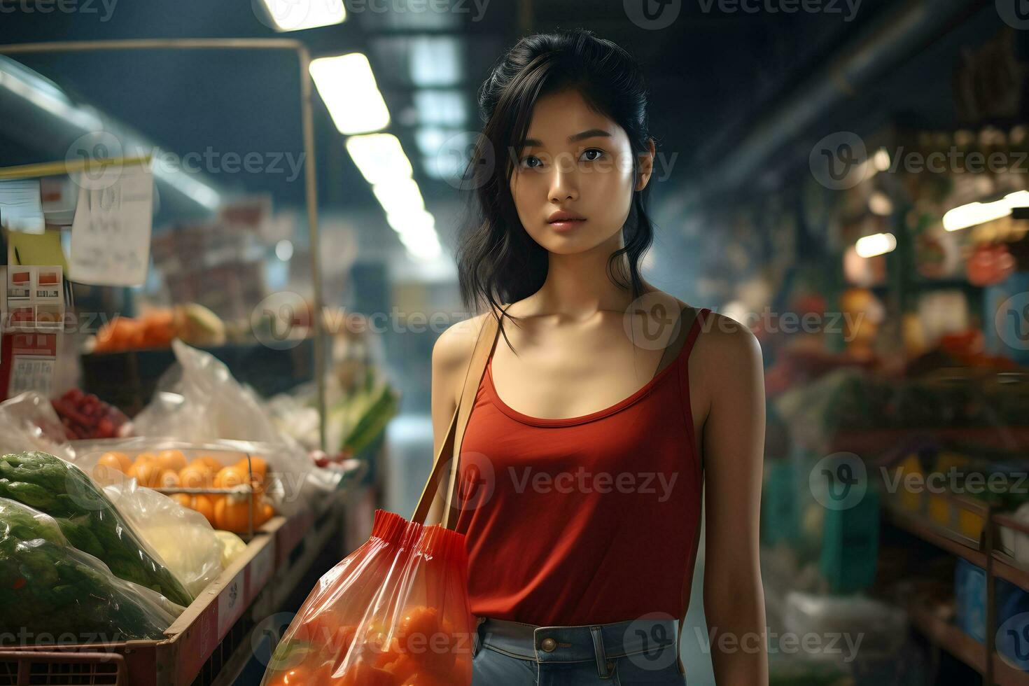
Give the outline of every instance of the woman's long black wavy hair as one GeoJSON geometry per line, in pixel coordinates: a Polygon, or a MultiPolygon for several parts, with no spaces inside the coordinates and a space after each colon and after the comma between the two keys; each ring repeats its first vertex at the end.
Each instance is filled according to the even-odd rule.
{"type": "MultiPolygon", "coordinates": [[[[473,189],[473,207],[458,237],[457,260],[461,298],[470,312],[489,303],[487,309],[496,317],[501,302],[532,295],[546,279],[547,251],[522,226],[510,177],[536,101],[566,88],[578,91],[591,109],[625,130],[632,147],[634,179],[639,179],[639,155],[649,152],[650,135],[647,88],[638,63],[618,45],[586,29],[522,38],[498,60],[478,89],[484,129],[463,177],[473,189]]],[[[634,299],[643,290],[639,261],[653,241],[646,212],[649,189],[648,184],[643,190],[633,190],[622,228],[624,247],[607,262],[614,283],[631,289],[634,299]],[[626,259],[619,259],[622,255],[626,259]]],[[[503,316],[510,318],[505,312],[503,316]]],[[[503,326],[502,319],[499,324],[503,326]]]]}

